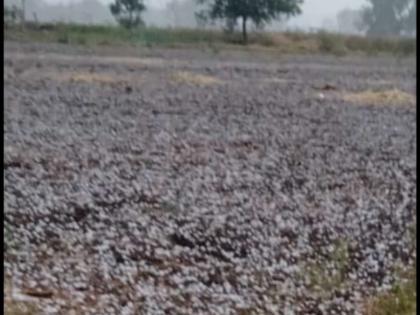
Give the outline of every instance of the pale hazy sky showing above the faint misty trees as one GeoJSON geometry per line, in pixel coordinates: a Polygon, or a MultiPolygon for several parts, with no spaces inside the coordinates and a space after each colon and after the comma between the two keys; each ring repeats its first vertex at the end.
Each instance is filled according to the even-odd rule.
{"type": "MultiPolygon", "coordinates": [[[[45,0],[49,3],[70,3],[78,0],[45,0]]],[[[110,3],[112,0],[100,0],[103,3],[110,3]]],[[[145,0],[149,6],[162,7],[169,0],[145,0]]],[[[366,0],[304,0],[302,14],[293,18],[288,23],[290,26],[320,27],[325,19],[335,19],[341,9],[360,8],[366,0]]]]}

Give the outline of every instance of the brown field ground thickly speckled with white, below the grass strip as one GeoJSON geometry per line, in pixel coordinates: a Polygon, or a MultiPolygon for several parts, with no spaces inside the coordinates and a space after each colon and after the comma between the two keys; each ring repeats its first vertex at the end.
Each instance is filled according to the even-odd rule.
{"type": "Polygon", "coordinates": [[[414,263],[413,60],[5,46],[6,299],[361,314],[414,263]]]}

